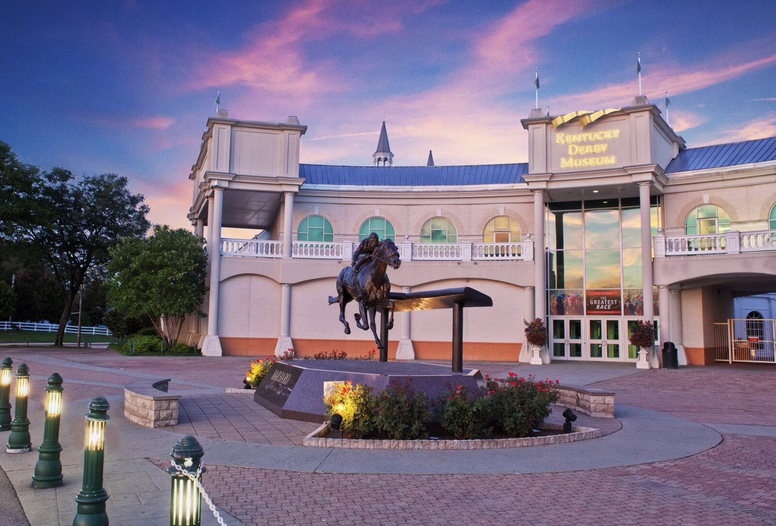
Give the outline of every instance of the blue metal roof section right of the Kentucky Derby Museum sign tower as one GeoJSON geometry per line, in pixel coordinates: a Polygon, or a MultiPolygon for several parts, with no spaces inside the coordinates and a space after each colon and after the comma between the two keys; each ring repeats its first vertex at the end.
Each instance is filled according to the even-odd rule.
{"type": "Polygon", "coordinates": [[[668,163],[666,174],[762,163],[767,160],[776,160],[776,137],[681,150],[676,159],[668,163]]]}

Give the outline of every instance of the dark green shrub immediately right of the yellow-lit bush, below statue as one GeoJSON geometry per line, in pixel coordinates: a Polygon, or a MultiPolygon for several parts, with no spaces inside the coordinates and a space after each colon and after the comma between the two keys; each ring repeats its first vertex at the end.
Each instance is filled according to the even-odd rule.
{"type": "Polygon", "coordinates": [[[375,403],[375,428],[393,440],[412,440],[428,435],[426,424],[431,418],[428,396],[416,393],[406,384],[396,380],[377,394],[375,403]]]}

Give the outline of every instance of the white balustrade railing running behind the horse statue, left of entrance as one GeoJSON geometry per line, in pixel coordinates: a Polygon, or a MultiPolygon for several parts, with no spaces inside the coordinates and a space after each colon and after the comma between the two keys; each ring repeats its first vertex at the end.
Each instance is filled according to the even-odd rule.
{"type": "MultiPolygon", "coordinates": [[[[221,239],[223,256],[282,257],[283,242],[267,239],[221,239]]],[[[402,261],[532,261],[532,240],[511,243],[400,243],[402,261]]],[[[355,243],[291,242],[291,257],[309,260],[350,260],[355,243]]]]}

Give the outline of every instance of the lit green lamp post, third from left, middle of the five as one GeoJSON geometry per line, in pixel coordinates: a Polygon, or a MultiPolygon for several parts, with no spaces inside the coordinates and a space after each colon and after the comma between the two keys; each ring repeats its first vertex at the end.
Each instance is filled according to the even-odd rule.
{"type": "Polygon", "coordinates": [[[46,421],[43,425],[43,443],[38,448],[38,463],[33,474],[33,487],[46,488],[62,485],[62,462],[59,454],[59,419],[62,414],[62,376],[49,376],[46,386],[46,421]]]}

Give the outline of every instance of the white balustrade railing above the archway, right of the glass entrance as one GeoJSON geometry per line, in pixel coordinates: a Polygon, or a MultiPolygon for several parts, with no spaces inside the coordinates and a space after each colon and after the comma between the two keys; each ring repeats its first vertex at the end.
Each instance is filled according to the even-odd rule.
{"type": "Polygon", "coordinates": [[[706,235],[656,235],[655,257],[695,254],[738,254],[776,250],[776,230],[706,235]]]}

